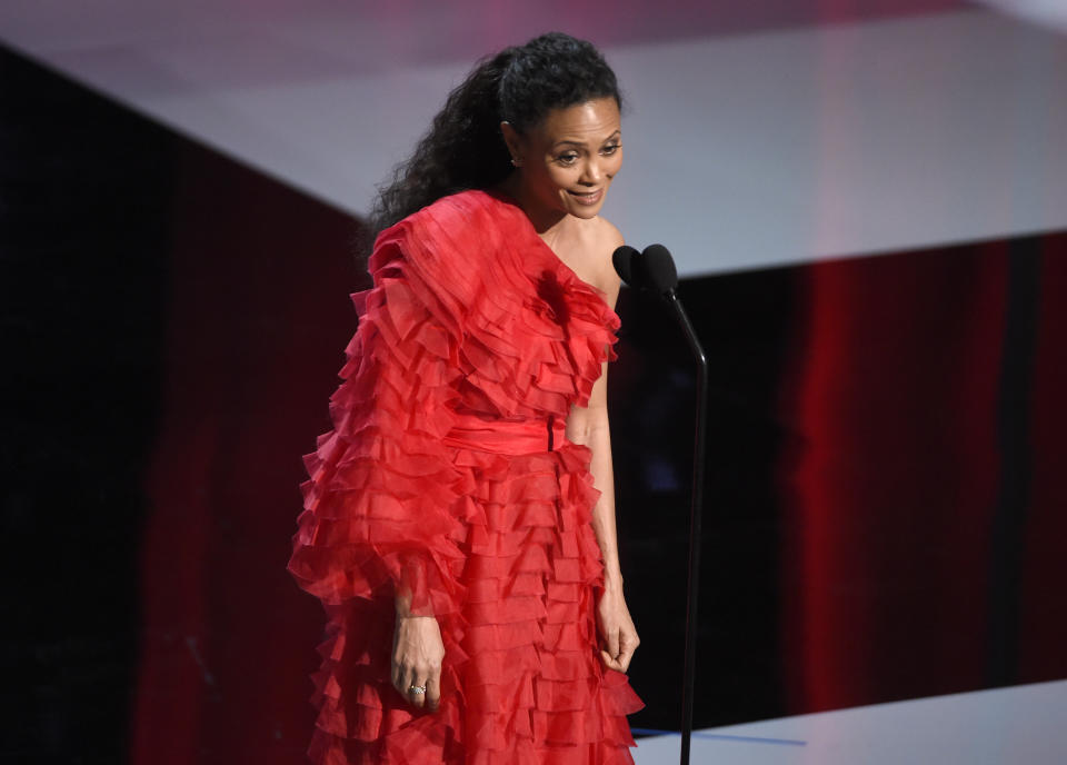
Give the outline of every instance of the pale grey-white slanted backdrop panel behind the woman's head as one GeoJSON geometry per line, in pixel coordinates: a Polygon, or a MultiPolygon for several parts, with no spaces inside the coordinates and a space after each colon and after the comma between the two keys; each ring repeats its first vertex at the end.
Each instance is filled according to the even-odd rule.
{"type": "Polygon", "coordinates": [[[816,23],[817,4],[19,0],[0,38],[362,213],[473,58],[587,33],[631,107],[606,215],[688,275],[1067,227],[1064,33],[953,2],[816,23]]]}

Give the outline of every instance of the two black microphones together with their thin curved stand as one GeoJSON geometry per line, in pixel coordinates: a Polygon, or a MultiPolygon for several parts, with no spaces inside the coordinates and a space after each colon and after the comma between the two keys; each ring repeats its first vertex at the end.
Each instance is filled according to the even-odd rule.
{"type": "Polygon", "coordinates": [[[708,358],[675,291],[678,271],[670,252],[662,245],[649,245],[644,252],[620,247],[612,256],[615,269],[635,287],[659,294],[675,311],[675,318],[689,342],[697,362],[696,425],[692,437],[692,493],[689,504],[689,582],[686,600],[686,654],[681,688],[681,765],[689,765],[692,738],[692,697],[697,673],[697,608],[700,583],[700,519],[704,515],[704,463],[707,433],[708,358]]]}

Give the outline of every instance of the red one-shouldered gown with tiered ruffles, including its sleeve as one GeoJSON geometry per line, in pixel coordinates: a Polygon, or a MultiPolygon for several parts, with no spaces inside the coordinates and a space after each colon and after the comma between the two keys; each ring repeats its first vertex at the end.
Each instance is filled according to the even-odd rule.
{"type": "Polygon", "coordinates": [[[383,231],[370,270],[289,563],[328,615],[312,759],[632,763],[644,704],[598,656],[591,453],[564,433],[618,316],[487,191],[383,231]],[[440,624],[433,713],[390,683],[398,585],[440,624]]]}

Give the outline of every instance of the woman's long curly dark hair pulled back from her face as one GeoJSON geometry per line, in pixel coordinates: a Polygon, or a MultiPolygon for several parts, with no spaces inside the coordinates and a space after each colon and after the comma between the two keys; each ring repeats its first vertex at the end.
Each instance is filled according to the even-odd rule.
{"type": "Polygon", "coordinates": [[[549,32],[481,59],[448,95],[411,157],[379,188],[370,238],[446,195],[503,180],[512,168],[501,121],[521,133],[552,109],[598,98],[622,107],[604,56],[569,34],[549,32]]]}

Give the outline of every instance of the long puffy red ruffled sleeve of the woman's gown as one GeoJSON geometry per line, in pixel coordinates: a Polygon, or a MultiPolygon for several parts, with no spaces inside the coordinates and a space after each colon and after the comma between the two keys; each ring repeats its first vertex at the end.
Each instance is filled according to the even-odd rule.
{"type": "Polygon", "coordinates": [[[330,398],[333,429],[305,456],[289,570],[326,605],[410,592],[417,615],[459,607],[459,475],[441,438],[455,420],[460,314],[418,262],[425,251],[410,226],[379,237],[375,287],[352,296],[360,320],[330,398]]]}

